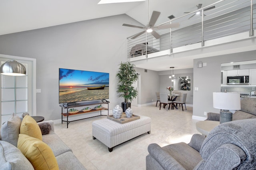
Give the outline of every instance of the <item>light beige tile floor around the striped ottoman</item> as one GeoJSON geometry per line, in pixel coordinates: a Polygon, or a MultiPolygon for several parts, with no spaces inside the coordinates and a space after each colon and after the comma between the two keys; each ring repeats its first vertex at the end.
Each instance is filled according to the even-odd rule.
{"type": "Polygon", "coordinates": [[[159,110],[155,105],[132,106],[132,109],[134,115],[151,117],[151,133],[122,143],[114,147],[112,152],[108,152],[108,147],[97,139],[92,139],[92,122],[106,119],[105,116],[71,122],[68,129],[66,124],[56,124],[55,132],[88,170],[146,170],[147,147],[150,143],[157,143],[161,147],[178,142],[189,143],[192,135],[199,133],[196,130],[198,120],[192,119],[192,107],[184,111],[181,107],[159,110]]]}

